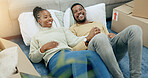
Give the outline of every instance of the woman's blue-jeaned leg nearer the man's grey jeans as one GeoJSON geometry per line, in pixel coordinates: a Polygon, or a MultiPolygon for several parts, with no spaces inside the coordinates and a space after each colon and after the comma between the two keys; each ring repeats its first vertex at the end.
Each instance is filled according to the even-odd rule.
{"type": "Polygon", "coordinates": [[[84,50],[81,52],[82,54],[85,54],[87,56],[87,59],[90,61],[96,78],[110,78],[110,73],[108,69],[96,52],[89,50],[84,50]]]}

